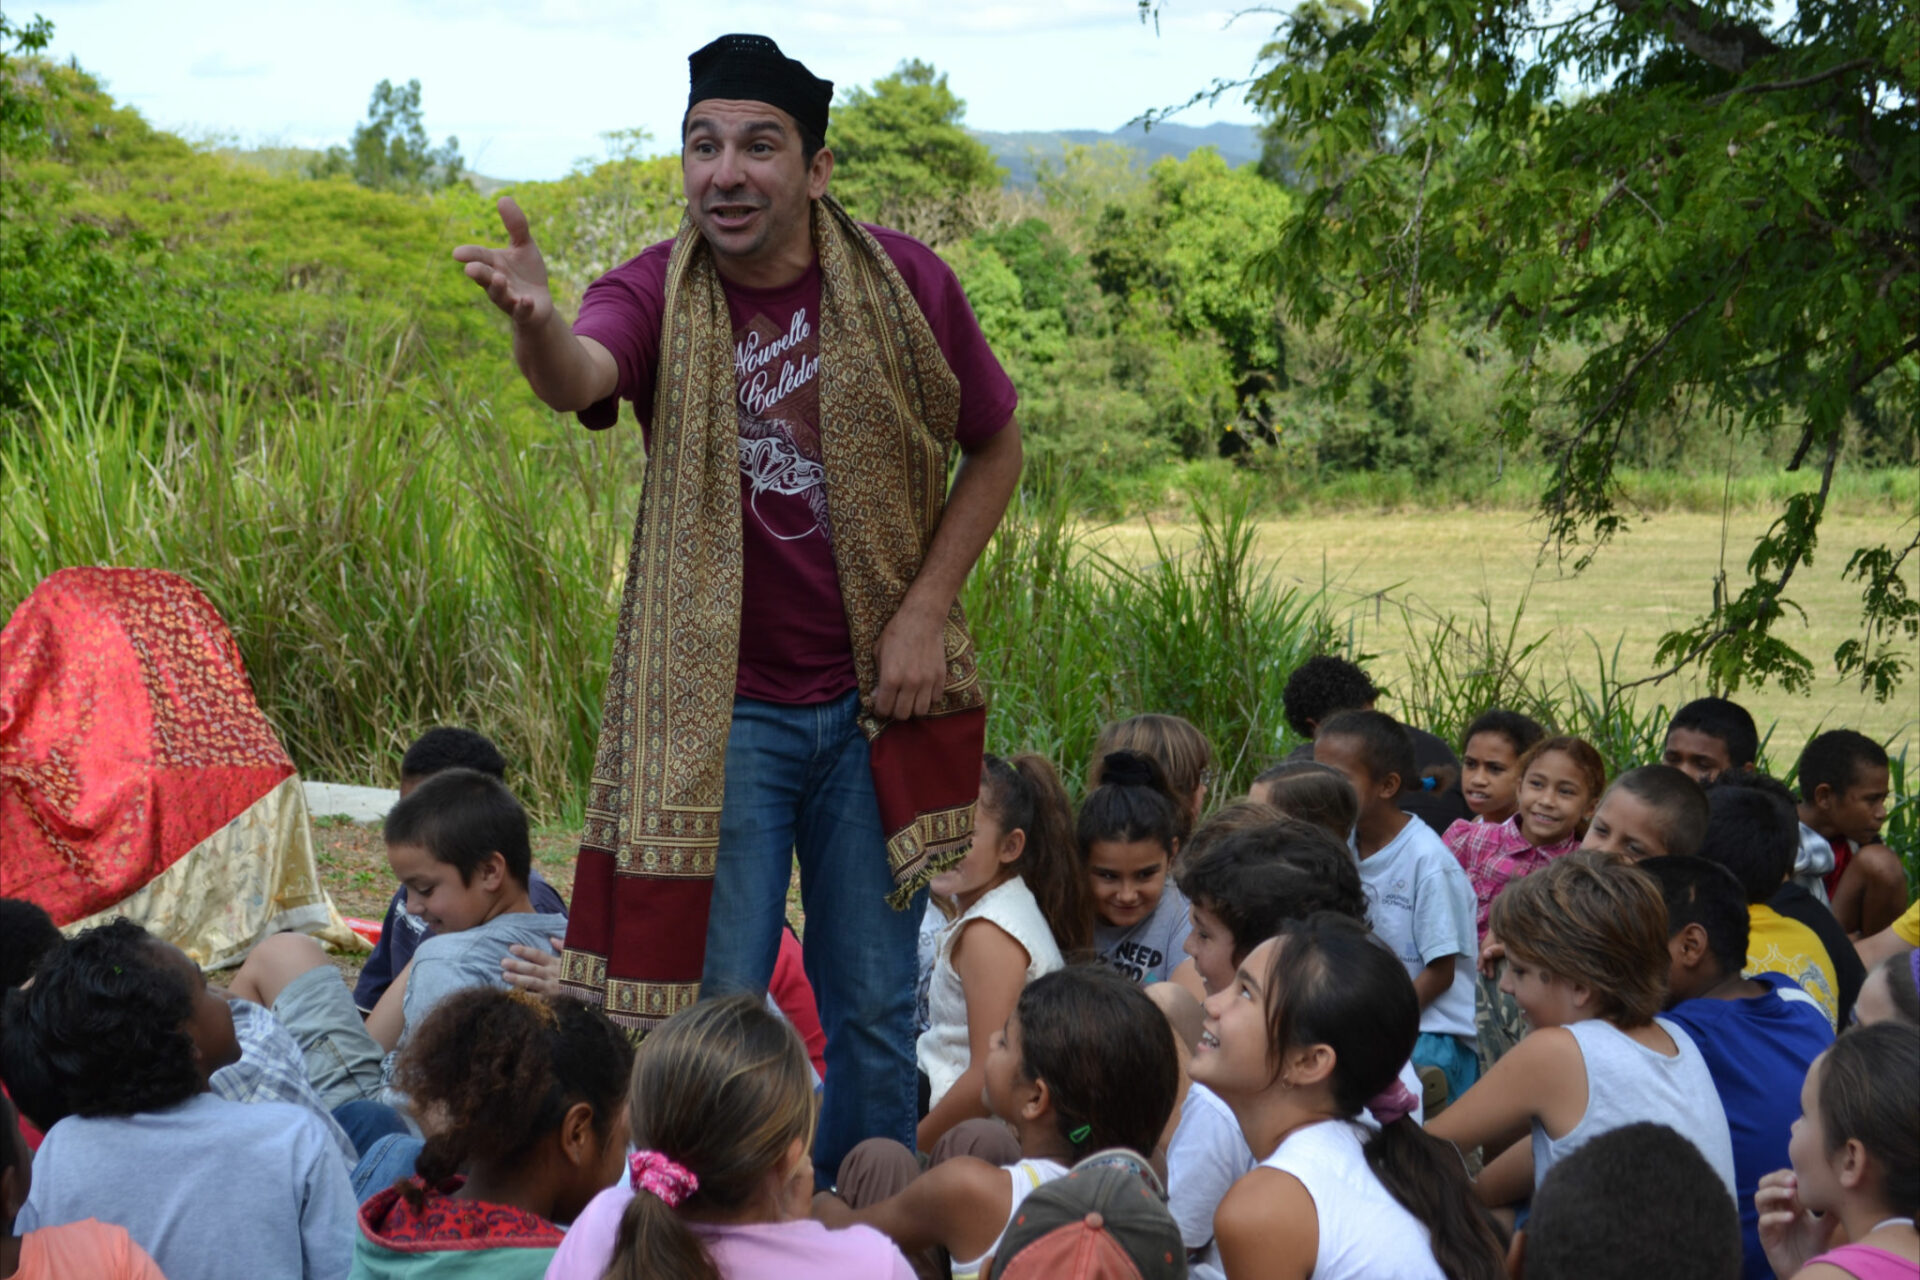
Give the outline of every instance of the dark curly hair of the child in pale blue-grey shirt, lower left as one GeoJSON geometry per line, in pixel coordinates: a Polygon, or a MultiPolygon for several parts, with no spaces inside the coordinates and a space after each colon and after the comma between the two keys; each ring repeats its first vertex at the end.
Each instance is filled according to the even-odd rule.
{"type": "Polygon", "coordinates": [[[194,992],[129,919],[88,929],[8,992],[0,1077],[27,1117],[50,1128],[67,1115],[134,1115],[202,1090],[194,992]]]}

